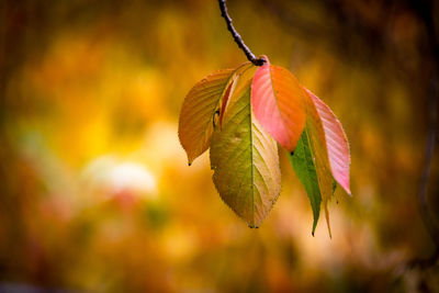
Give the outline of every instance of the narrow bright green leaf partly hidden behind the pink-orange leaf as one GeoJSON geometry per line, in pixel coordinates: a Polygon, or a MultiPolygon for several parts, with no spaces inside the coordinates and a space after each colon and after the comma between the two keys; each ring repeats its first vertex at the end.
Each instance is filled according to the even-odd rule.
{"type": "Polygon", "coordinates": [[[311,202],[311,207],[313,209],[314,222],[312,234],[314,236],[318,216],[320,214],[322,194],[309,144],[309,137],[305,128],[299,139],[294,155],[290,154],[289,159],[293,165],[295,174],[305,188],[311,202]]]}

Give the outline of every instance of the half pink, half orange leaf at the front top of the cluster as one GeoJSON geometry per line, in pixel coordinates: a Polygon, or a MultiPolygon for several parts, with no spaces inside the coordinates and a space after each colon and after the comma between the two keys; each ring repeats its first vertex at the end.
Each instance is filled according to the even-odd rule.
{"type": "Polygon", "coordinates": [[[293,151],[305,126],[305,92],[289,70],[267,64],[251,84],[251,104],[262,127],[285,149],[293,151]]]}

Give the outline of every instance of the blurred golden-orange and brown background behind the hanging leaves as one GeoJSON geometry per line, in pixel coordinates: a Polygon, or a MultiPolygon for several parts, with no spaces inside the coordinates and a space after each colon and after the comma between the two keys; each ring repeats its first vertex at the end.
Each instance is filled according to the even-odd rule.
{"type": "Polygon", "coordinates": [[[312,237],[285,154],[259,229],[222,202],[209,153],[188,167],[184,95],[246,60],[217,1],[0,0],[0,292],[439,292],[437,263],[412,266],[435,251],[418,193],[439,3],[227,2],[346,129],[333,239],[324,217],[312,237]]]}

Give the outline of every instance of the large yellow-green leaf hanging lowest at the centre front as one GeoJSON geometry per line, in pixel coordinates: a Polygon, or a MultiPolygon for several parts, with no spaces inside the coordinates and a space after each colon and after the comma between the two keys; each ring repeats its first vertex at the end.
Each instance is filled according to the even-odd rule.
{"type": "Polygon", "coordinates": [[[229,98],[222,127],[211,139],[213,181],[221,198],[248,226],[258,227],[281,185],[278,145],[256,121],[250,103],[254,72],[241,77],[229,98]]]}

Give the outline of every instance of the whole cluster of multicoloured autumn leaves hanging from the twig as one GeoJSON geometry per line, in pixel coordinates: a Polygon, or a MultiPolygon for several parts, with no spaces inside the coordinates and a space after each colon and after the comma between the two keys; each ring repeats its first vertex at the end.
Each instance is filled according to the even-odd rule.
{"type": "Polygon", "coordinates": [[[349,145],[330,109],[286,69],[244,63],[215,71],[184,99],[179,138],[189,165],[207,148],[224,202],[258,227],[280,193],[278,143],[308,195],[313,235],[338,183],[350,194],[349,145]]]}

